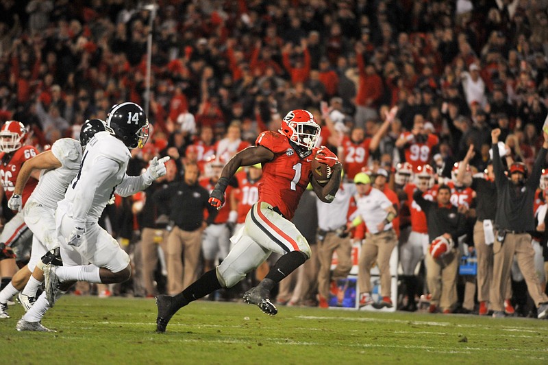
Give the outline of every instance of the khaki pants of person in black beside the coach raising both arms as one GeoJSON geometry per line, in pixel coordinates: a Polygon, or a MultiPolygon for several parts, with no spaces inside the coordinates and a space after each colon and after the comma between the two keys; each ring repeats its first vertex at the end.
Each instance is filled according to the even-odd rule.
{"type": "MultiPolygon", "coordinates": [[[[484,224],[479,220],[474,225],[474,247],[477,257],[477,301],[492,302],[495,288],[493,285],[493,245],[485,244],[484,224]]],[[[512,298],[510,276],[508,276],[504,298],[512,298]]]]}

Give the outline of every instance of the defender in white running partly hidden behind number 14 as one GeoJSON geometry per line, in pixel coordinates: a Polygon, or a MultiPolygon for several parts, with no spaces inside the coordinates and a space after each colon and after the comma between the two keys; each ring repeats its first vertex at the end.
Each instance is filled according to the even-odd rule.
{"type": "MultiPolygon", "coordinates": [[[[64,192],[78,172],[82,160],[82,150],[85,148],[86,143],[96,132],[105,130],[104,123],[99,119],[86,121],[82,126],[80,141],[70,138],[55,141],[51,146],[51,150],[31,158],[21,168],[15,183],[14,193],[8,201],[8,207],[14,211],[21,211],[23,188],[30,176],[35,171],[40,172],[42,170],[38,185],[25,202],[25,208],[23,209],[25,224],[34,233],[32,251],[27,266],[21,268],[14,275],[16,280],[13,280],[5,287],[5,290],[0,292],[0,303],[20,292],[23,287],[25,289],[22,293],[19,293],[18,298],[25,311],[36,300],[36,291],[44,280],[40,257],[45,255],[47,251],[59,247],[58,237],[55,233],[54,217],[57,202],[64,198],[64,192]],[[30,272],[32,272],[32,276],[29,278],[27,273],[30,272]],[[25,286],[25,284],[27,285],[25,286]]],[[[47,256],[47,259],[51,261],[53,257],[52,252],[47,256]]],[[[7,310],[0,309],[0,318],[9,318],[7,310]]]]}

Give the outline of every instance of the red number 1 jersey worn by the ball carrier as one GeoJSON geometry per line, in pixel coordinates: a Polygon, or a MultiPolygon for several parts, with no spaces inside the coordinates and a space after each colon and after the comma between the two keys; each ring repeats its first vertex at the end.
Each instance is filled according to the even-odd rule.
{"type": "Polygon", "coordinates": [[[310,163],[317,149],[314,148],[310,156],[300,158],[284,134],[271,130],[259,134],[255,144],[274,152],[273,160],[262,165],[259,201],[277,207],[287,220],[291,220],[310,183],[310,163]]]}

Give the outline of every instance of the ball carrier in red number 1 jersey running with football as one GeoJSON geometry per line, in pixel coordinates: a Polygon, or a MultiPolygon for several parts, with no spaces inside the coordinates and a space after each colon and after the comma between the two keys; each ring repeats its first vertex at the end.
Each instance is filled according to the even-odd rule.
{"type": "Polygon", "coordinates": [[[253,147],[238,152],[228,161],[210,195],[210,204],[220,208],[225,202],[229,179],[240,166],[262,164],[259,200],[247,214],[245,225],[232,237],[234,248],[220,266],[201,276],[176,296],[158,296],[156,331],[164,332],[177,310],[221,287],[232,287],[247,272],[257,268],[272,252],[282,257],[266,277],[244,294],[246,303],[256,304],[274,315],[271,289],[310,258],[308,242],[290,222],[308,183],[323,202],[332,202],[340,185],[342,166],[325,147],[316,148],[320,126],[307,110],[292,110],[282,120],[278,132],[262,132],[253,147]],[[312,159],[332,169],[329,181],[321,186],[312,178],[312,159]]]}

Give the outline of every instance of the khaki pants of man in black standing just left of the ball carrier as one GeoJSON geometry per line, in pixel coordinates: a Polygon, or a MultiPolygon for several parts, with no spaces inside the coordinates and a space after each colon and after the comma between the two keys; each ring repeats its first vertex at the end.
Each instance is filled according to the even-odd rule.
{"type": "Polygon", "coordinates": [[[202,230],[188,232],[175,226],[167,237],[167,290],[179,294],[198,277],[202,230]],[[184,274],[181,255],[184,252],[184,274]]]}

